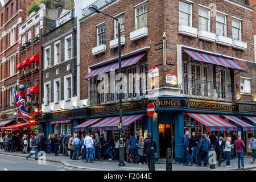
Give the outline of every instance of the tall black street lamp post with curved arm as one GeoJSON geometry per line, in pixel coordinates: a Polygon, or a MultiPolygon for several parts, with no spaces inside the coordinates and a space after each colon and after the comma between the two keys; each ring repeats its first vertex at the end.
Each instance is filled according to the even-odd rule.
{"type": "MultiPolygon", "coordinates": [[[[89,10],[94,11],[96,13],[102,13],[106,16],[109,16],[110,18],[113,18],[118,23],[118,71],[119,71],[119,81],[122,81],[121,77],[121,30],[120,30],[120,23],[117,18],[114,18],[113,16],[110,16],[108,14],[105,14],[98,10],[98,7],[96,5],[92,5],[89,7],[89,10]]],[[[120,134],[119,134],[119,164],[118,166],[125,166],[125,148],[123,147],[123,129],[122,129],[122,84],[121,84],[121,92],[119,93],[119,115],[120,115],[120,134]]]]}

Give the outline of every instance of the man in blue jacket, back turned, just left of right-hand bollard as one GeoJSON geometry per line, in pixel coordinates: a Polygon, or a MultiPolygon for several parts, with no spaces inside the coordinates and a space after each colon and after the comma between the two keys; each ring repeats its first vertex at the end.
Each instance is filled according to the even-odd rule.
{"type": "Polygon", "coordinates": [[[209,140],[207,138],[205,138],[204,134],[201,134],[201,140],[200,140],[199,146],[198,146],[199,155],[198,155],[197,166],[201,166],[201,161],[203,158],[204,159],[204,167],[207,167],[207,156],[208,156],[209,149],[210,149],[209,140]]]}

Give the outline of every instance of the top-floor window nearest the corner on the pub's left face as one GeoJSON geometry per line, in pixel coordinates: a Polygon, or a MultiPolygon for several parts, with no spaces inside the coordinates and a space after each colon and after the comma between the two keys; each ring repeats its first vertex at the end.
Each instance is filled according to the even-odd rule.
{"type": "Polygon", "coordinates": [[[135,29],[147,27],[147,4],[135,7],[135,29]]]}

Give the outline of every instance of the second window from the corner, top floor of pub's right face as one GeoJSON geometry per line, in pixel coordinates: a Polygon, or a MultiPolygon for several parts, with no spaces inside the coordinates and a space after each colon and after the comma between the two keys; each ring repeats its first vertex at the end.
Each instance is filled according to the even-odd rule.
{"type": "Polygon", "coordinates": [[[210,10],[203,7],[199,7],[199,30],[210,31],[210,10]]]}

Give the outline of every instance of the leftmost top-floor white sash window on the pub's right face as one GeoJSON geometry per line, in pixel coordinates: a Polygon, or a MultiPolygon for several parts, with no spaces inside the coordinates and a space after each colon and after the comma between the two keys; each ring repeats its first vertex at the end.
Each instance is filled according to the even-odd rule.
{"type": "Polygon", "coordinates": [[[192,5],[179,2],[179,23],[192,27],[192,5]]]}

